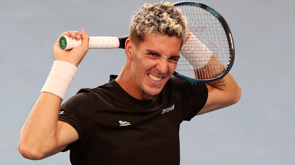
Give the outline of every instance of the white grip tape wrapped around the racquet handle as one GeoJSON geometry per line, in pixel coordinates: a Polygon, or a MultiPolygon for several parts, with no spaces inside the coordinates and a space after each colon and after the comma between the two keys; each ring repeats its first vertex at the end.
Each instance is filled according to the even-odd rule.
{"type": "MultiPolygon", "coordinates": [[[[81,39],[76,40],[63,35],[67,40],[67,46],[64,50],[73,49],[81,45],[81,39]]],[[[116,49],[119,48],[120,42],[117,37],[89,37],[89,49],[116,49]]]]}

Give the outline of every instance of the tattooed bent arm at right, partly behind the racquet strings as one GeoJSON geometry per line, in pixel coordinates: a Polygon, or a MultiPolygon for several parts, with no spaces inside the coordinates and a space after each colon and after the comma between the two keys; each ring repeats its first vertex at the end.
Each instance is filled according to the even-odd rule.
{"type": "MultiPolygon", "coordinates": [[[[199,54],[199,59],[203,57],[203,61],[199,61],[197,67],[194,68],[197,79],[210,79],[223,72],[225,69],[223,64],[214,57],[214,54],[205,45],[196,39],[189,29],[187,29],[186,38],[183,42],[184,48],[186,47],[184,46],[185,44],[196,45],[199,50],[193,51],[198,52],[195,54],[199,54]]],[[[188,50],[184,49],[184,51],[188,50]]],[[[191,65],[194,66],[194,64],[191,65]]],[[[208,99],[203,109],[197,115],[232,105],[238,102],[241,97],[241,88],[230,73],[222,79],[207,83],[206,86],[208,88],[208,99]]]]}

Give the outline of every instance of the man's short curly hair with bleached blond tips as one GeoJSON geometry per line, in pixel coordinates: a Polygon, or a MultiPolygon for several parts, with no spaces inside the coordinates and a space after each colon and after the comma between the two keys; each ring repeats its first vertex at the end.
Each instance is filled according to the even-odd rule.
{"type": "Polygon", "coordinates": [[[145,34],[176,36],[185,38],[187,28],[186,18],[181,9],[163,2],[145,3],[140,11],[132,16],[129,38],[138,45],[144,40],[145,34]]]}

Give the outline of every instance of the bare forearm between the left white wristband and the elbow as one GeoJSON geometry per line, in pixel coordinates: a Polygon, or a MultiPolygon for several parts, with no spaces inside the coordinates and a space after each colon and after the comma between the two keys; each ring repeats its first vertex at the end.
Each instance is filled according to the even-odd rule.
{"type": "MultiPolygon", "coordinates": [[[[19,150],[30,151],[30,155],[41,157],[57,145],[56,129],[61,98],[43,92],[33,106],[26,123],[22,127],[19,150]]],[[[26,155],[26,154],[25,154],[26,155]]]]}

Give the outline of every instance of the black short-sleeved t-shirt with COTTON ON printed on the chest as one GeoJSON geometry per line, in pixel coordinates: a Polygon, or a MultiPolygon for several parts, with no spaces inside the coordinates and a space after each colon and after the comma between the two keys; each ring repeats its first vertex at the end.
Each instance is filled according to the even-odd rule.
{"type": "MultiPolygon", "coordinates": [[[[151,100],[138,100],[110,82],[83,88],[61,105],[58,120],[75,128],[72,164],[179,164],[179,124],[205,105],[205,84],[171,77],[151,100]]],[[[193,131],[193,130],[192,130],[193,131]]]]}

